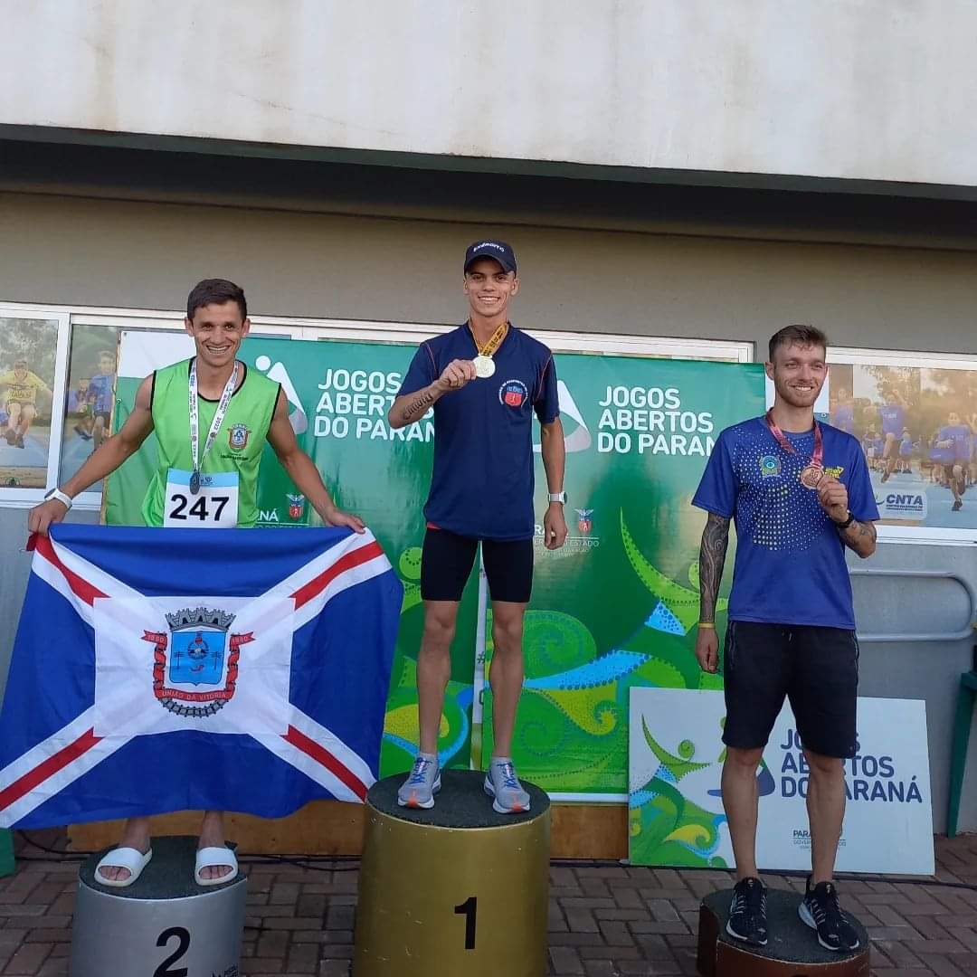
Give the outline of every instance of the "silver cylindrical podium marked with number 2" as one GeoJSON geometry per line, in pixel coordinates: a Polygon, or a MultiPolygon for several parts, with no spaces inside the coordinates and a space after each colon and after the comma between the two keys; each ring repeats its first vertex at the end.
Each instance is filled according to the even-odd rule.
{"type": "Polygon", "coordinates": [[[206,974],[236,977],[247,901],[247,878],[197,885],[192,836],[153,838],[152,861],[132,885],[95,880],[105,852],[78,877],[71,932],[70,977],[206,974]]]}

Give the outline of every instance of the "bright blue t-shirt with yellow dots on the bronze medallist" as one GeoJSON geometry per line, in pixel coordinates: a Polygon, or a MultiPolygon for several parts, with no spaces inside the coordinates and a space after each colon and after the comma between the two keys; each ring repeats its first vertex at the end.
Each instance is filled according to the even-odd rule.
{"type": "MultiPolygon", "coordinates": [[[[852,515],[860,522],[878,519],[862,447],[830,424],[821,430],[825,468],[848,489],[852,515]]],[[[736,522],[730,619],[853,631],[844,544],[817,491],[800,483],[814,451],[814,432],[785,435],[794,453],[777,444],[762,417],[726,428],[692,500],[736,522]]]]}

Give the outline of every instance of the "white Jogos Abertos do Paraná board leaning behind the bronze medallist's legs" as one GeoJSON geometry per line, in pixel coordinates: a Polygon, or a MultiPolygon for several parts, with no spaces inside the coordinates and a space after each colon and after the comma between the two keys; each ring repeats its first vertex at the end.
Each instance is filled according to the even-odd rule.
{"type": "MultiPolygon", "coordinates": [[[[720,777],[726,708],[719,692],[631,691],[629,858],[636,865],[733,865],[720,777]]],[[[860,698],[858,753],[845,760],[838,871],[934,871],[926,705],[860,698]]],[[[785,703],[757,771],[757,865],[810,869],[807,761],[785,703]]]]}

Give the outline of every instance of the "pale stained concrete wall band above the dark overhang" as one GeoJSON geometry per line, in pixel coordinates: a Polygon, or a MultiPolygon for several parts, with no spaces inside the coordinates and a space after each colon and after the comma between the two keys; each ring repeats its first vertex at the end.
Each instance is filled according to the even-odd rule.
{"type": "Polygon", "coordinates": [[[0,124],[972,188],[975,34],[969,0],[35,0],[0,124]]]}

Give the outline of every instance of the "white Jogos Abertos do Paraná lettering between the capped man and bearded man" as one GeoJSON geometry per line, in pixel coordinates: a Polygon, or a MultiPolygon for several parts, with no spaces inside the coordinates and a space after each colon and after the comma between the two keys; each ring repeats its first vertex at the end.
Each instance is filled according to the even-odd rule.
{"type": "Polygon", "coordinates": [[[677,387],[612,387],[604,393],[597,423],[602,454],[684,454],[706,457],[715,445],[708,410],[683,410],[677,387]]]}

